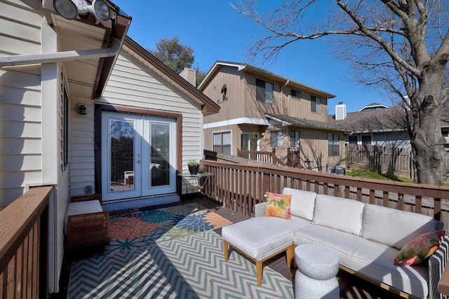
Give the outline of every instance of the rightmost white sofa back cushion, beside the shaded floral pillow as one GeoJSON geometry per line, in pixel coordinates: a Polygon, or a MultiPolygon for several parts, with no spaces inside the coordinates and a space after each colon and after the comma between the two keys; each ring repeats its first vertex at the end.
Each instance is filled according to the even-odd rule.
{"type": "Polygon", "coordinates": [[[431,216],[376,204],[366,204],[363,209],[362,237],[397,249],[434,230],[435,221],[431,216]]]}

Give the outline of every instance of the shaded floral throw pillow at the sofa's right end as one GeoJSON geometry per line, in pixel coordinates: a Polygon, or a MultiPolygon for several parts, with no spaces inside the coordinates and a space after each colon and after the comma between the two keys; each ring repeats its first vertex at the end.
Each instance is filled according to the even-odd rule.
{"type": "Polygon", "coordinates": [[[426,232],[403,246],[401,251],[394,258],[394,265],[405,266],[419,264],[428,258],[443,241],[444,230],[426,232]]]}

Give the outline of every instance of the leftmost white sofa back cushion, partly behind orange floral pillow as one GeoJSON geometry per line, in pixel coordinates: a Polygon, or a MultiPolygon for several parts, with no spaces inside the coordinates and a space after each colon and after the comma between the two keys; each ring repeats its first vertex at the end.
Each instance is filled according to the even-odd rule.
{"type": "Polygon", "coordinates": [[[283,188],[282,194],[291,194],[290,213],[292,216],[311,221],[314,218],[316,193],[293,188],[283,188]]]}

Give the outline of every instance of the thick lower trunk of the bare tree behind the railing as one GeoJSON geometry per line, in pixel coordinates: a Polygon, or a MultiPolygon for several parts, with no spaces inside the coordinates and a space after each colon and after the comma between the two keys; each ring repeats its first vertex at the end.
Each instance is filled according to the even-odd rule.
{"type": "MultiPolygon", "coordinates": [[[[440,108],[436,97],[423,90],[420,91],[422,104],[415,107],[415,121],[413,123],[413,136],[411,143],[415,156],[417,181],[430,185],[442,185],[444,174],[444,144],[445,139],[441,133],[440,108]]],[[[438,89],[437,89],[438,90],[438,89]]]]}

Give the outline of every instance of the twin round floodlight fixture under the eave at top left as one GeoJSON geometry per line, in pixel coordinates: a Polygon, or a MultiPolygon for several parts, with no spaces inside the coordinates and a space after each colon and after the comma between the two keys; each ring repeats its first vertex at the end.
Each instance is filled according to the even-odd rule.
{"type": "Polygon", "coordinates": [[[67,20],[74,20],[78,15],[93,13],[95,18],[107,21],[111,18],[111,10],[103,0],[93,0],[88,5],[84,0],[53,0],[56,13],[67,20]]]}

